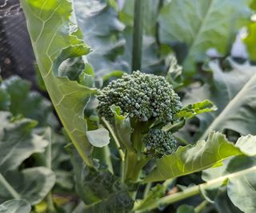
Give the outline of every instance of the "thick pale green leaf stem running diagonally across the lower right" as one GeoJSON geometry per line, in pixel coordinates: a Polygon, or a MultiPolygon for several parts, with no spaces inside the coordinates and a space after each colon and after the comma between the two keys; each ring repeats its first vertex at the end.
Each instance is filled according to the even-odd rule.
{"type": "Polygon", "coordinates": [[[217,184],[217,183],[222,183],[226,179],[234,178],[234,177],[237,177],[237,176],[244,176],[247,173],[255,172],[255,171],[256,171],[256,166],[252,167],[252,168],[247,168],[247,169],[239,171],[239,172],[234,172],[232,174],[222,176],[222,177],[219,177],[217,179],[210,180],[207,183],[202,183],[202,184],[199,184],[197,186],[190,187],[190,188],[186,189],[185,191],[177,192],[173,195],[167,195],[165,197],[162,197],[161,199],[154,200],[154,202],[147,203],[146,207],[140,205],[139,203],[135,203],[134,204],[134,211],[136,211],[136,213],[141,213],[141,212],[144,212],[144,211],[151,211],[151,210],[157,208],[160,205],[168,205],[168,204],[180,201],[182,199],[186,199],[186,198],[189,198],[191,196],[198,195],[202,189],[206,189],[207,187],[214,186],[214,184],[217,184]]]}

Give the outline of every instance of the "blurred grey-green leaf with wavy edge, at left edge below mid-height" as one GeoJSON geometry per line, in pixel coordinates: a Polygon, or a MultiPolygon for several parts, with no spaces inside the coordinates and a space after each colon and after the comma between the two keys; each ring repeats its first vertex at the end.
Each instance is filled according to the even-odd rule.
{"type": "Polygon", "coordinates": [[[18,168],[35,152],[44,152],[48,141],[32,133],[37,124],[30,119],[12,120],[10,112],[0,112],[0,172],[18,168]]]}

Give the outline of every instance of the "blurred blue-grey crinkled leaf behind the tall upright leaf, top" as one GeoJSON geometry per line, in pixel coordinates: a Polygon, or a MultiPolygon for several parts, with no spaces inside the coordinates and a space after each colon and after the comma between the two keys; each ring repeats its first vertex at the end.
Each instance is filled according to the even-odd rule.
{"type": "Polygon", "coordinates": [[[119,57],[125,45],[119,34],[125,26],[110,3],[107,0],[74,1],[78,26],[84,33],[86,44],[92,48],[88,61],[101,77],[115,69],[128,70],[127,62],[119,57]]]}

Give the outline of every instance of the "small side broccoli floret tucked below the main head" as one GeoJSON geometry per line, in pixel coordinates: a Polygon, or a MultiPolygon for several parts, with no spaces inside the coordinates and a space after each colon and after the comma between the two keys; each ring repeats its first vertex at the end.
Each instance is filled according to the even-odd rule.
{"type": "Polygon", "coordinates": [[[177,141],[171,132],[151,128],[143,139],[146,148],[146,155],[154,158],[170,155],[176,150],[177,141]]]}

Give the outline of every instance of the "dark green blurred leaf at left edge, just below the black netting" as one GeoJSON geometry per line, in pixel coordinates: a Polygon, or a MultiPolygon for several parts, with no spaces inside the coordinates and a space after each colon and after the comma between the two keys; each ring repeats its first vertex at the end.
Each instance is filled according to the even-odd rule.
{"type": "Polygon", "coordinates": [[[10,112],[14,116],[22,116],[38,120],[38,126],[58,126],[52,113],[53,107],[45,97],[38,92],[30,92],[31,83],[18,76],[13,76],[2,81],[1,88],[6,90],[10,96],[10,112]]]}

